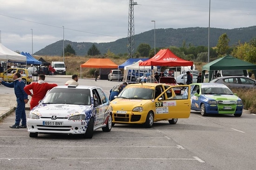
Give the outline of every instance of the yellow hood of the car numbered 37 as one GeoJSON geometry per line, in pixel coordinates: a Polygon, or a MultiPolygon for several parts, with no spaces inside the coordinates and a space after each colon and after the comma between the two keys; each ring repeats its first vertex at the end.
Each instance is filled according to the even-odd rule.
{"type": "MultiPolygon", "coordinates": [[[[124,98],[115,98],[110,102],[110,105],[115,109],[120,107],[127,108],[128,110],[133,110],[133,108],[140,106],[142,107],[148,102],[153,102],[153,100],[143,100],[143,99],[124,99],[124,98]]],[[[127,110],[127,111],[128,111],[127,110]]]]}

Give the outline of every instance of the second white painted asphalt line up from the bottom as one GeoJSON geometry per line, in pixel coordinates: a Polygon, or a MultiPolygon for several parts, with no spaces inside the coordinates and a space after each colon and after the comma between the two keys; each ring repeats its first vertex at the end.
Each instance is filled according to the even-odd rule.
{"type": "MultiPolygon", "coordinates": [[[[0,145],[0,147],[31,147],[32,145],[0,145]]],[[[119,147],[119,148],[177,148],[179,149],[179,147],[177,146],[110,146],[110,145],[105,145],[105,146],[100,146],[100,145],[95,145],[95,146],[69,146],[69,145],[33,145],[33,147],[67,147],[67,148],[71,148],[71,147],[83,147],[83,148],[92,148],[92,147],[119,147]]]]}

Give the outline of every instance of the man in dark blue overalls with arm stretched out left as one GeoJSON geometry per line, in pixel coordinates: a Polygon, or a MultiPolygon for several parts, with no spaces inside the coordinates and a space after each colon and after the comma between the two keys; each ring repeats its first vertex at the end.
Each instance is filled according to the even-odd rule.
{"type": "Polygon", "coordinates": [[[1,81],[0,83],[4,86],[14,88],[14,93],[16,96],[17,107],[15,110],[15,124],[9,126],[10,128],[27,128],[27,119],[26,119],[26,111],[25,105],[28,102],[27,93],[24,91],[25,83],[21,80],[21,75],[19,72],[13,74],[13,82],[7,83],[5,81],[1,81]],[[21,119],[21,125],[20,125],[21,119]]]}

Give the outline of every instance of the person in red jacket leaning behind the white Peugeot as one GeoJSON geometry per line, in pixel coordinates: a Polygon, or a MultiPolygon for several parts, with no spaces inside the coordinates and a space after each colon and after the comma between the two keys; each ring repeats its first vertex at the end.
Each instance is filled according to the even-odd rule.
{"type": "Polygon", "coordinates": [[[44,74],[39,74],[38,77],[39,78],[37,83],[31,83],[30,85],[24,87],[24,91],[27,93],[27,95],[30,95],[32,97],[30,101],[30,110],[38,105],[39,101],[45,97],[48,90],[51,90],[52,88],[57,86],[57,84],[46,83],[44,81],[44,74]],[[30,92],[30,90],[32,90],[33,93],[30,92]]]}

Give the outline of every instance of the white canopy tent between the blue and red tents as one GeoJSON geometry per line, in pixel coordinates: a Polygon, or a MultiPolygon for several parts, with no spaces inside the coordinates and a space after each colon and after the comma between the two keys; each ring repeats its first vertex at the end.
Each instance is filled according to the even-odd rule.
{"type": "MultiPolygon", "coordinates": [[[[131,71],[135,70],[135,73],[136,73],[136,71],[138,71],[139,75],[140,75],[141,71],[144,72],[145,74],[146,73],[151,73],[151,66],[140,66],[139,65],[140,62],[142,62],[142,60],[139,60],[139,61],[137,61],[136,63],[134,63],[132,65],[124,66],[124,81],[128,80],[128,76],[132,77],[132,75],[129,75],[129,70],[131,70],[131,71]]],[[[157,70],[157,67],[154,66],[153,69],[157,70]]],[[[136,81],[136,76],[135,76],[135,81],[136,81]]]]}

